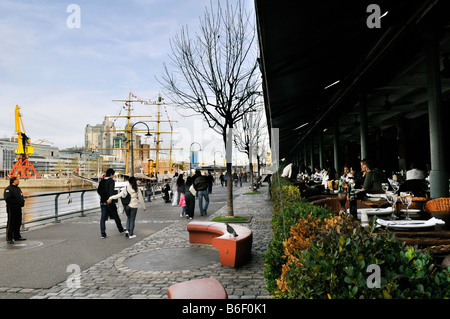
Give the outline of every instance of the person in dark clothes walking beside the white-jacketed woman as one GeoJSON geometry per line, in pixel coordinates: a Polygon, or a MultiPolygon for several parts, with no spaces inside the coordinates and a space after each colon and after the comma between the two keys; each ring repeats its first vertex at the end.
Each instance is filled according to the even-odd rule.
{"type": "Polygon", "coordinates": [[[108,199],[116,194],[114,189],[114,174],[115,171],[112,168],[108,168],[106,170],[105,178],[103,178],[98,184],[97,193],[100,195],[100,208],[101,208],[101,217],[100,217],[100,233],[102,238],[106,238],[106,225],[105,222],[109,218],[114,219],[116,222],[117,229],[119,233],[123,233],[125,229],[122,226],[122,221],[120,220],[119,214],[117,213],[117,200],[113,200],[111,203],[108,203],[108,199]]]}

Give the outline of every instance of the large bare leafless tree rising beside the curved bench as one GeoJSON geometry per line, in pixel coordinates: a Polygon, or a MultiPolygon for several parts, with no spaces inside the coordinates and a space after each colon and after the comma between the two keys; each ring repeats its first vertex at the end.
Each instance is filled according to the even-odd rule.
{"type": "MultiPolygon", "coordinates": [[[[255,28],[241,1],[212,2],[200,18],[200,30],[191,37],[188,28],[171,39],[172,72],[164,64],[160,83],[168,97],[181,107],[203,116],[224,141],[227,175],[232,176],[233,127],[253,112],[260,89],[255,53],[255,28]]],[[[233,183],[227,183],[227,215],[233,213],[233,183]]]]}

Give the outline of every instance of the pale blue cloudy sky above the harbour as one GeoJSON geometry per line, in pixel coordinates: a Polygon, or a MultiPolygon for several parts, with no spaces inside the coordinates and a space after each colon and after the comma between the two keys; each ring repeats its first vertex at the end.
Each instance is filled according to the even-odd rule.
{"type": "MultiPolygon", "coordinates": [[[[245,2],[253,11],[253,0],[245,2]]],[[[132,92],[156,101],[163,94],[157,78],[163,63],[169,62],[170,38],[182,26],[195,31],[209,4],[210,0],[0,1],[0,137],[14,135],[14,109],[19,105],[32,142],[46,140],[60,149],[84,146],[87,124],[100,124],[105,115],[114,118],[121,112],[123,102],[115,100],[127,99],[132,92]]],[[[164,115],[178,121],[175,146],[184,148],[175,159],[189,157],[190,141],[208,148],[202,160],[212,162],[212,154],[221,152],[216,153],[219,160],[224,153],[220,136],[200,117],[165,102],[164,115]]],[[[135,112],[154,114],[156,108],[135,104],[135,112]]],[[[118,119],[115,124],[123,128],[124,122],[118,119]]]]}

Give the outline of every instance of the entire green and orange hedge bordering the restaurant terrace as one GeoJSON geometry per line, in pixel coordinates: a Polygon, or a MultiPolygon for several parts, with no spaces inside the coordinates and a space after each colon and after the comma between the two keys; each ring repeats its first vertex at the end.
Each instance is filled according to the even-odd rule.
{"type": "Polygon", "coordinates": [[[361,227],[300,197],[288,180],[272,182],[273,236],[264,255],[276,298],[449,298],[450,269],[387,230],[361,227]],[[380,278],[370,282],[371,271],[380,278]]]}

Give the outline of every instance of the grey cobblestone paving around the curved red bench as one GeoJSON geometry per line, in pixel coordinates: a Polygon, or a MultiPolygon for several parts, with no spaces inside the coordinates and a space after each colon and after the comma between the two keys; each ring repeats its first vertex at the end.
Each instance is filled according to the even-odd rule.
{"type": "MultiPolygon", "coordinates": [[[[151,255],[163,250],[170,252],[170,249],[175,252],[175,249],[197,248],[206,253],[214,253],[212,250],[215,248],[212,246],[189,244],[189,234],[186,231],[189,220],[180,218],[133,246],[82,271],[77,285],[79,288],[71,288],[65,281],[50,289],[35,291],[37,293],[31,299],[167,299],[167,289],[172,284],[209,277],[222,283],[229,299],[269,299],[264,288],[263,254],[272,234],[272,204],[267,200],[267,187],[261,189],[261,194],[247,195],[244,192],[248,191],[248,187],[234,188],[235,192],[240,193],[234,199],[235,215],[252,216],[250,223],[243,224],[253,231],[252,256],[240,268],[222,266],[218,253],[217,261],[212,260],[208,265],[178,267],[177,270],[148,270],[145,263],[131,262],[133,258],[139,259],[145,254],[151,255]]],[[[226,215],[226,204],[210,217],[218,215],[226,215]]]]}

